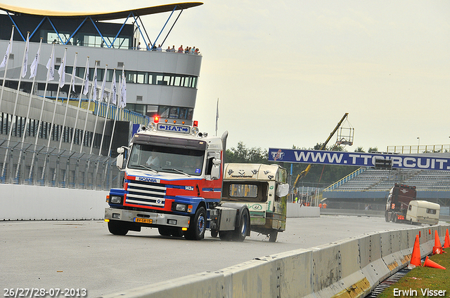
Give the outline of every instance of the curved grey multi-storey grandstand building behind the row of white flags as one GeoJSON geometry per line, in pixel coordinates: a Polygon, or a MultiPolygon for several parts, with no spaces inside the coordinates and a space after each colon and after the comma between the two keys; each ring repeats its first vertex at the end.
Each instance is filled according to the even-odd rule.
{"type": "Polygon", "coordinates": [[[40,146],[49,144],[51,148],[93,154],[101,150],[101,154],[108,156],[116,147],[127,144],[133,129],[131,124],[147,124],[155,114],[161,121],[167,119],[191,125],[202,56],[166,52],[156,47],[167,48],[165,39],[181,12],[200,5],[200,2],[187,2],[109,13],[64,13],[0,4],[0,10],[4,11],[0,15],[1,54],[6,52],[13,32],[8,62],[6,67],[0,68],[0,83],[3,84],[0,87],[0,140],[20,141],[25,135],[25,142],[30,144],[34,144],[36,138],[40,146]],[[140,16],[156,13],[167,13],[169,17],[162,24],[161,32],[150,39],[140,16]],[[117,20],[124,21],[117,23],[117,20]],[[20,77],[27,32],[30,32],[28,69],[41,48],[34,85],[30,70],[25,77],[20,77]],[[47,77],[46,65],[53,47],[56,70],[63,62],[66,66],[63,88],[58,88],[58,74],[54,80],[47,77]],[[86,63],[89,93],[84,95],[86,63]],[[74,66],[75,90],[69,94],[74,66]],[[97,71],[97,95],[92,92],[94,69],[97,71]],[[117,88],[122,72],[126,78],[126,107],[121,111],[115,104],[108,107],[105,103],[113,87],[114,72],[117,88]],[[106,91],[104,97],[99,98],[103,78],[106,91]],[[112,136],[115,140],[113,149],[109,150],[112,136]]]}

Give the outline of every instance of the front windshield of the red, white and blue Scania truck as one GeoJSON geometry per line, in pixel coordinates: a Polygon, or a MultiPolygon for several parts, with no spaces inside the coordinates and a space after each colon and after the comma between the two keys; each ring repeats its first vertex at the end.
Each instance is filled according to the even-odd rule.
{"type": "Polygon", "coordinates": [[[193,176],[202,175],[205,151],[133,144],[128,168],[150,168],[158,172],[174,172],[193,176]]]}

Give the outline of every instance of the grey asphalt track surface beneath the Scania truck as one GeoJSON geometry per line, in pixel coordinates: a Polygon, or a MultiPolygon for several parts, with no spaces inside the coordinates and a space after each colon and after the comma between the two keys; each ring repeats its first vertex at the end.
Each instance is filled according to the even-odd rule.
{"type": "Polygon", "coordinates": [[[163,237],[149,228],[114,236],[103,221],[0,222],[1,297],[11,288],[86,289],[84,297],[101,297],[279,252],[410,227],[382,217],[288,218],[276,243],[254,232],[239,243],[212,238],[209,231],[203,241],[163,237]]]}

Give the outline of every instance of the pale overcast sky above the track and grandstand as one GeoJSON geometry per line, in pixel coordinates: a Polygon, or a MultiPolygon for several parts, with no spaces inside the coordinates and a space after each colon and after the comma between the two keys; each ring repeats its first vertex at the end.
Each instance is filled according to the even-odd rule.
{"type": "MultiPolygon", "coordinates": [[[[2,2],[115,11],[176,1],[2,2]]],[[[450,144],[450,1],[203,2],[181,14],[165,43],[203,53],[200,131],[214,135],[219,98],[218,135],[229,131],[229,147],[314,147],[346,112],[349,151],[450,144]]],[[[143,18],[150,38],[167,17],[143,18]]]]}

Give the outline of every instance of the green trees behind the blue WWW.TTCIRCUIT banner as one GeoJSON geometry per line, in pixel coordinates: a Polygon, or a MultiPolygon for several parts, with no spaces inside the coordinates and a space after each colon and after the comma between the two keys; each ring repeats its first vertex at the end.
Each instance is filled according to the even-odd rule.
{"type": "MultiPolygon", "coordinates": [[[[316,144],[313,148],[304,150],[319,150],[322,144],[316,144]]],[[[300,147],[293,146],[293,149],[300,149],[300,147]]],[[[332,146],[326,147],[328,151],[347,151],[342,146],[332,146]]],[[[371,147],[368,149],[368,152],[377,152],[377,147],[371,147]]],[[[357,147],[354,152],[365,152],[363,147],[357,147]]],[[[273,161],[269,162],[268,159],[269,150],[262,149],[261,147],[252,147],[248,148],[245,146],[243,142],[238,142],[238,145],[232,147],[231,149],[226,149],[224,162],[225,163],[275,163],[273,161]]],[[[297,177],[299,177],[297,181],[298,186],[305,187],[328,187],[330,184],[337,182],[341,178],[349,175],[350,173],[357,170],[359,167],[349,166],[349,165],[312,165],[308,174],[304,177],[301,177],[301,173],[303,170],[307,168],[306,163],[278,163],[283,168],[288,170],[290,173],[291,165],[292,165],[292,181],[294,182],[297,177]]]]}

